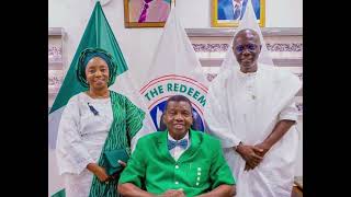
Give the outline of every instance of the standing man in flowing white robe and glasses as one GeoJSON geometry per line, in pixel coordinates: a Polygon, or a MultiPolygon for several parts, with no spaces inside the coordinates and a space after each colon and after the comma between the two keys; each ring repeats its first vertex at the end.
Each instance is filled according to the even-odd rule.
{"type": "Polygon", "coordinates": [[[256,31],[238,31],[233,53],[239,67],[213,81],[204,117],[208,132],[222,140],[238,197],[290,197],[298,148],[293,99],[302,83],[258,62],[261,48],[256,31]]]}

